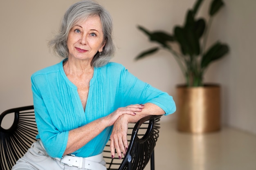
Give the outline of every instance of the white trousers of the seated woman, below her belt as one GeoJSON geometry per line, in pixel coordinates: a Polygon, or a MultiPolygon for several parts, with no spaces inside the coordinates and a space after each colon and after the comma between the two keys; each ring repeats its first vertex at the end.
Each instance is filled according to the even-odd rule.
{"type": "MultiPolygon", "coordinates": [[[[102,165],[106,162],[102,159],[102,165]]],[[[84,169],[83,170],[88,170],[84,169]]],[[[34,142],[31,148],[21,157],[12,170],[81,170],[75,166],[62,165],[60,159],[49,157],[39,141],[34,142]]]]}

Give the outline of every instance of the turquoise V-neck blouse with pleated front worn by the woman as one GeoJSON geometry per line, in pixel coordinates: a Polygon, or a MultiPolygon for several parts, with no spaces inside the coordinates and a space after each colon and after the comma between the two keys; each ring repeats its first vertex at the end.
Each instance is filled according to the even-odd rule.
{"type": "MultiPolygon", "coordinates": [[[[94,68],[85,111],[76,86],[65,75],[63,61],[34,73],[31,83],[37,139],[41,139],[51,157],[63,156],[69,130],[104,117],[119,107],[150,102],[162,108],[166,115],[176,109],[170,95],[142,82],[124,66],[114,62],[94,68]]],[[[101,153],[111,131],[112,126],[107,127],[73,154],[90,157],[101,153]]]]}

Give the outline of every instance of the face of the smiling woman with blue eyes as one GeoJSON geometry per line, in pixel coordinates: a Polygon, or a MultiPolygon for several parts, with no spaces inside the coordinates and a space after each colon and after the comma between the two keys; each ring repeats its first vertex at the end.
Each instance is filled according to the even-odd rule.
{"type": "Polygon", "coordinates": [[[92,61],[94,55],[103,50],[104,45],[99,16],[91,16],[77,22],[67,36],[69,58],[92,61]]]}

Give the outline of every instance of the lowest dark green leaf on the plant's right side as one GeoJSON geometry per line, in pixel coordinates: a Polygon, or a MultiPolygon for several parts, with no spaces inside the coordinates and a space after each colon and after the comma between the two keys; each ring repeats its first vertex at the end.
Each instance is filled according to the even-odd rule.
{"type": "Polygon", "coordinates": [[[216,42],[202,57],[201,67],[206,68],[211,62],[218,60],[229,52],[227,44],[216,42]]]}

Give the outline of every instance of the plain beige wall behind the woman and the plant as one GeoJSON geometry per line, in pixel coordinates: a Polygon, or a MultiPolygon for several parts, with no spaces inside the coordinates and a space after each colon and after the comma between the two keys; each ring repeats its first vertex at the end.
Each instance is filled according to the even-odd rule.
{"type": "MultiPolygon", "coordinates": [[[[49,54],[47,40],[58,29],[67,7],[77,0],[1,0],[0,2],[0,112],[32,104],[30,75],[61,59],[49,54]]],[[[112,14],[117,55],[112,60],[153,86],[175,97],[184,82],[173,57],[164,51],[135,62],[143,49],[153,46],[136,26],[172,31],[182,24],[194,0],[98,0],[112,14]]],[[[256,134],[256,1],[225,0],[211,28],[211,40],[227,42],[231,52],[210,66],[207,82],[222,85],[222,122],[256,134]]],[[[207,11],[206,0],[201,13],[207,11]]],[[[175,114],[165,120],[175,120],[175,114]]],[[[9,123],[10,124],[10,123],[9,123]]]]}

